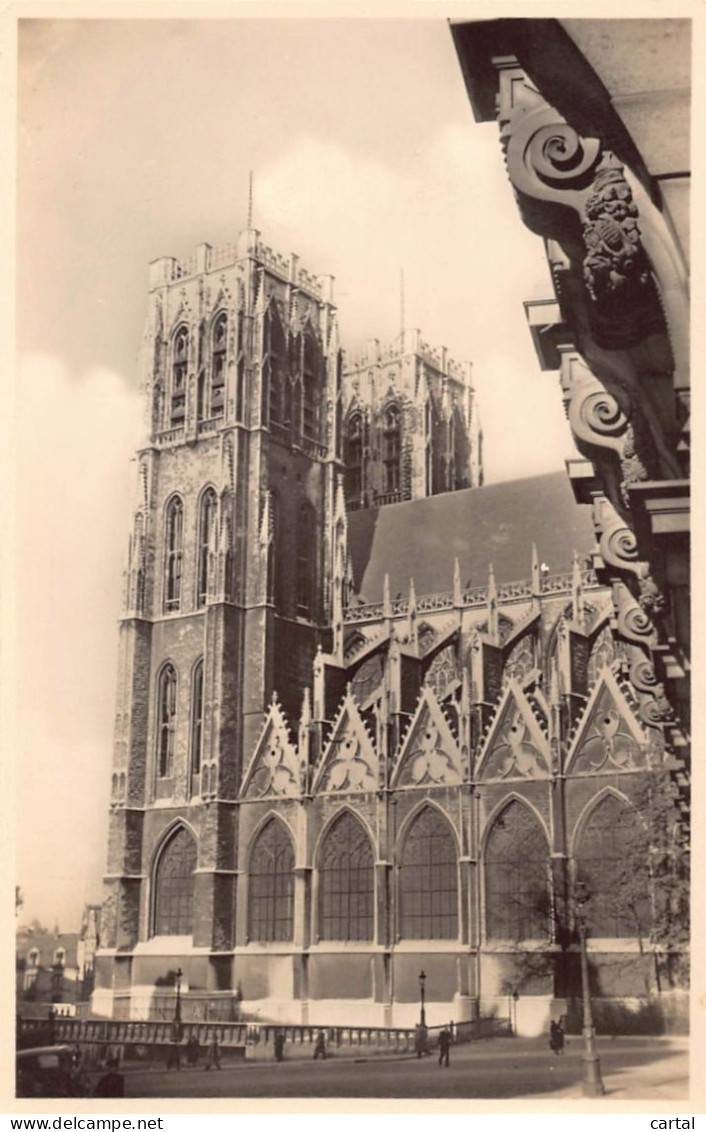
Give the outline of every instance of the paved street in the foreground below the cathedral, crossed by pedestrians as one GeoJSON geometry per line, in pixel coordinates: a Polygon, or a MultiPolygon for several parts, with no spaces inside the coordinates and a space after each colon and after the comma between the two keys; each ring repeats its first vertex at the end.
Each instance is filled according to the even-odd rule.
{"type": "MultiPolygon", "coordinates": [[[[332,1057],[325,1062],[244,1062],[221,1071],[128,1070],[129,1097],[448,1097],[582,1096],[582,1043],[556,1057],[545,1039],[493,1039],[436,1057],[332,1057]]],[[[599,1043],[605,1091],[614,1100],[688,1097],[686,1039],[613,1038],[599,1043]]]]}

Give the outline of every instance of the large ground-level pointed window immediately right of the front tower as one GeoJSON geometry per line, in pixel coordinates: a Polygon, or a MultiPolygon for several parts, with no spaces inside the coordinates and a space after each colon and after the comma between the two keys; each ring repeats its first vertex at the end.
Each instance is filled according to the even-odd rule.
{"type": "Polygon", "coordinates": [[[248,871],[248,937],[287,942],[294,928],[294,849],[283,823],[273,818],[258,835],[248,871]]]}

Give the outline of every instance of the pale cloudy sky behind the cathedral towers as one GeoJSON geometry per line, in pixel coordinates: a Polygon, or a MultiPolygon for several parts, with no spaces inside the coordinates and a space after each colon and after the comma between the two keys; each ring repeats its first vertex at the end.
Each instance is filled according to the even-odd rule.
{"type": "Polygon", "coordinates": [[[100,898],[147,264],[255,225],[336,276],[343,344],[474,363],[488,482],[572,452],[522,300],[550,294],[444,19],[23,20],[18,880],[100,898]],[[541,443],[539,438],[541,437],[541,443]]]}

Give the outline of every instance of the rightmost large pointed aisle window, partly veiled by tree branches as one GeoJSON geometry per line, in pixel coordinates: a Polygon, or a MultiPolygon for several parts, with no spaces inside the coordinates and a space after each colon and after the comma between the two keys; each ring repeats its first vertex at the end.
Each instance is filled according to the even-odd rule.
{"type": "Polygon", "coordinates": [[[640,867],[640,855],[635,852],[643,840],[640,832],[636,811],[614,795],[606,795],[584,824],[576,852],[576,878],[585,882],[591,894],[586,914],[594,936],[644,938],[649,932],[648,855],[642,856],[640,867]]]}

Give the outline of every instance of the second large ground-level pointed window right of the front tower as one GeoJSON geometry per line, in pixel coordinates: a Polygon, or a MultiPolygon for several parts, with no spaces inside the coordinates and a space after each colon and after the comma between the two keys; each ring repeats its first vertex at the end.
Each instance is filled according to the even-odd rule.
{"type": "Polygon", "coordinates": [[[370,838],[344,813],[319,854],[319,937],[372,940],[374,865],[370,838]]]}

